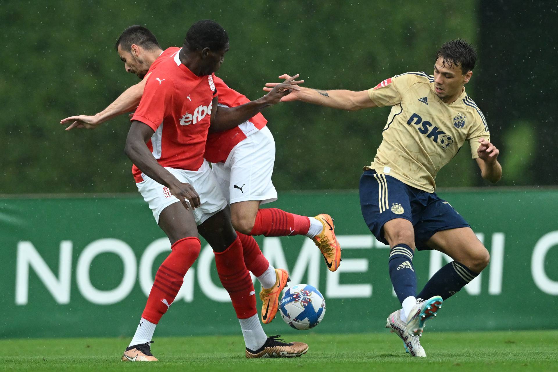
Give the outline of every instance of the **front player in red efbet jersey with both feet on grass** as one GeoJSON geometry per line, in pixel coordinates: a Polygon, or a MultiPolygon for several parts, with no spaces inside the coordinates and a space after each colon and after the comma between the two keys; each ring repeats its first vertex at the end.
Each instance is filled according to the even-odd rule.
{"type": "Polygon", "coordinates": [[[198,257],[198,233],[215,252],[219,278],[240,321],[246,357],[300,356],[308,349],[302,342],[287,344],[263,332],[227,200],[203,158],[210,126],[224,130],[245,122],[280,102],[290,89],[297,89],[297,82],[291,80],[254,102],[218,107],[213,73],[228,49],[227,32],[218,23],[194,23],[184,46],[151,66],[153,76],[146,81],[133,115],[125,152],[134,164],[138,190],[168,236],[172,252],[157,270],[136,334],[122,356],[124,361],[157,360],[151,354],[153,332],[198,257]]]}

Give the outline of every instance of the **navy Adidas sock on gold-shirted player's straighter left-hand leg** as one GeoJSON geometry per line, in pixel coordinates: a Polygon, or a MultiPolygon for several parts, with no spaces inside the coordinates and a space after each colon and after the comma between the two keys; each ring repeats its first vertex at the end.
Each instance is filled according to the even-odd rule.
{"type": "Polygon", "coordinates": [[[397,244],[389,251],[389,278],[399,302],[415,296],[417,277],[413,268],[413,250],[407,244],[397,244]]]}

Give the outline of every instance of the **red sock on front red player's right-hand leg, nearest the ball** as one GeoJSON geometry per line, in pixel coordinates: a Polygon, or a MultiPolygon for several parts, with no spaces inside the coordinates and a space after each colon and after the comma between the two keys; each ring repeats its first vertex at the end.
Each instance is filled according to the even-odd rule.
{"type": "Polygon", "coordinates": [[[244,264],[242,243],[237,237],[224,252],[215,252],[215,265],[223,288],[229,292],[237,318],[256,315],[256,291],[244,264]]]}

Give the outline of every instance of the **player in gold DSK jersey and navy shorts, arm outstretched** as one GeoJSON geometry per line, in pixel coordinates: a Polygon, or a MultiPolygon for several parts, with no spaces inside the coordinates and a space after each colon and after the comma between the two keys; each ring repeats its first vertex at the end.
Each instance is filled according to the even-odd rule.
{"type": "MultiPolygon", "coordinates": [[[[383,141],[360,178],[360,204],[374,236],[391,247],[389,276],[402,308],[389,315],[386,327],[413,356],[426,356],[418,337],[425,321],[489,262],[487,249],[469,224],[434,192],[436,173],[465,141],[485,180],[502,177],[499,151],[490,142],[484,115],[465,93],[476,59],[466,41],[453,40],[437,51],[434,75],[396,75],[363,91],[301,87],[282,98],[342,110],[392,107],[383,141]],[[412,264],[415,249],[436,249],[454,259],[419,294],[412,264]]],[[[276,84],[268,83],[264,90],[276,84]]]]}

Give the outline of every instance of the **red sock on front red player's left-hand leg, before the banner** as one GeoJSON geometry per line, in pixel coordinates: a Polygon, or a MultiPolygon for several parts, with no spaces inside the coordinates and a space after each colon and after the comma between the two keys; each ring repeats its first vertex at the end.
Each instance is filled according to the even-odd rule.
{"type": "Polygon", "coordinates": [[[142,314],[144,319],[155,324],[169,310],[184,282],[186,272],[198,258],[201,250],[200,239],[194,236],[180,239],[172,244],[171,249],[169,257],[163,261],[155,274],[155,282],[142,314]]]}

